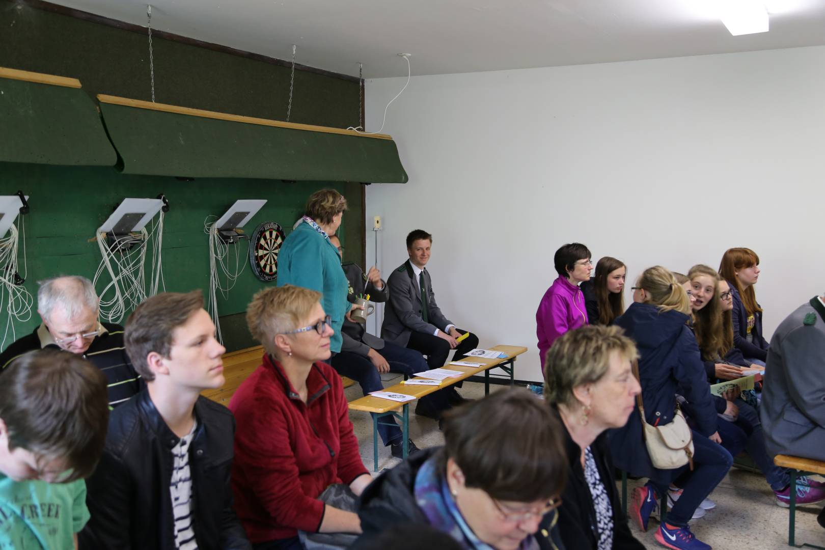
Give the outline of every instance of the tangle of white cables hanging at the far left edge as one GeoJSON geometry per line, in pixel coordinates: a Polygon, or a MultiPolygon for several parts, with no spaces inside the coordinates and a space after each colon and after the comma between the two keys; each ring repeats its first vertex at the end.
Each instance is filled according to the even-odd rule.
{"type": "MultiPolygon", "coordinates": [[[[21,216],[21,224],[23,224],[21,216]]],[[[23,266],[26,266],[26,227],[23,228],[23,266]]],[[[6,347],[6,341],[11,333],[12,341],[16,340],[14,322],[26,322],[31,319],[31,308],[34,299],[26,287],[14,283],[15,275],[18,275],[17,251],[19,244],[19,233],[14,223],[9,226],[8,237],[0,239],[0,308],[5,307],[7,312],[6,329],[3,331],[2,343],[0,347],[6,347]]],[[[25,275],[23,276],[25,279],[25,275]]]]}

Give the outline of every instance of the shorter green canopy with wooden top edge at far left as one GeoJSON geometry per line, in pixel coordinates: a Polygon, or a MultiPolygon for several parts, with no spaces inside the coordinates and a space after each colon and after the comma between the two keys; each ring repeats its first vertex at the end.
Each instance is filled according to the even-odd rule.
{"type": "Polygon", "coordinates": [[[76,78],[0,68],[0,161],[112,166],[92,98],[76,78]]]}

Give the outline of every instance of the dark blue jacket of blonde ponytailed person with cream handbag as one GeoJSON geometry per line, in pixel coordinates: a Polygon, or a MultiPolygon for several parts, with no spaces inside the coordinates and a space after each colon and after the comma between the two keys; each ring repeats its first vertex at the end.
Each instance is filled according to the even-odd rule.
{"type": "MultiPolygon", "coordinates": [[[[648,424],[671,422],[676,393],[681,393],[691,402],[696,430],[707,436],[716,431],[716,408],[699,346],[686,324],[688,318],[676,311],[660,312],[649,303],[633,303],[615,324],[625,329],[639,349],[639,378],[648,424]]],[[[634,476],[669,482],[674,472],[653,468],[650,463],[638,407],[624,428],[611,430],[610,454],[617,468],[634,476]]]]}

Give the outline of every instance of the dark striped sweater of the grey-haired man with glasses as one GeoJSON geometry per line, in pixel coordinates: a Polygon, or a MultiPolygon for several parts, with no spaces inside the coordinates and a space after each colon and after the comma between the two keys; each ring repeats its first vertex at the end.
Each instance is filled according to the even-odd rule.
{"type": "MultiPolygon", "coordinates": [[[[109,390],[109,407],[116,407],[138,393],[144,386],[126,355],[123,345],[123,327],[111,323],[101,323],[92,345],[83,354],[83,358],[92,362],[103,374],[106,374],[109,390]]],[[[28,336],[12,343],[0,355],[0,372],[6,369],[20,355],[45,347],[56,348],[49,329],[40,325],[28,336]]],[[[2,383],[2,378],[0,378],[2,383]]]]}

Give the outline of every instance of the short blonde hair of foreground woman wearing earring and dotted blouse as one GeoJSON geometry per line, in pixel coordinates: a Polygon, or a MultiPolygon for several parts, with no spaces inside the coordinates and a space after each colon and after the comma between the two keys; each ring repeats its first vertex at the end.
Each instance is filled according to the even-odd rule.
{"type": "Polygon", "coordinates": [[[639,358],[634,341],[620,327],[585,325],[565,332],[547,350],[544,360],[544,398],[550,404],[576,402],[573,388],[596,383],[610,369],[610,354],[618,351],[629,361],[639,358]]]}

